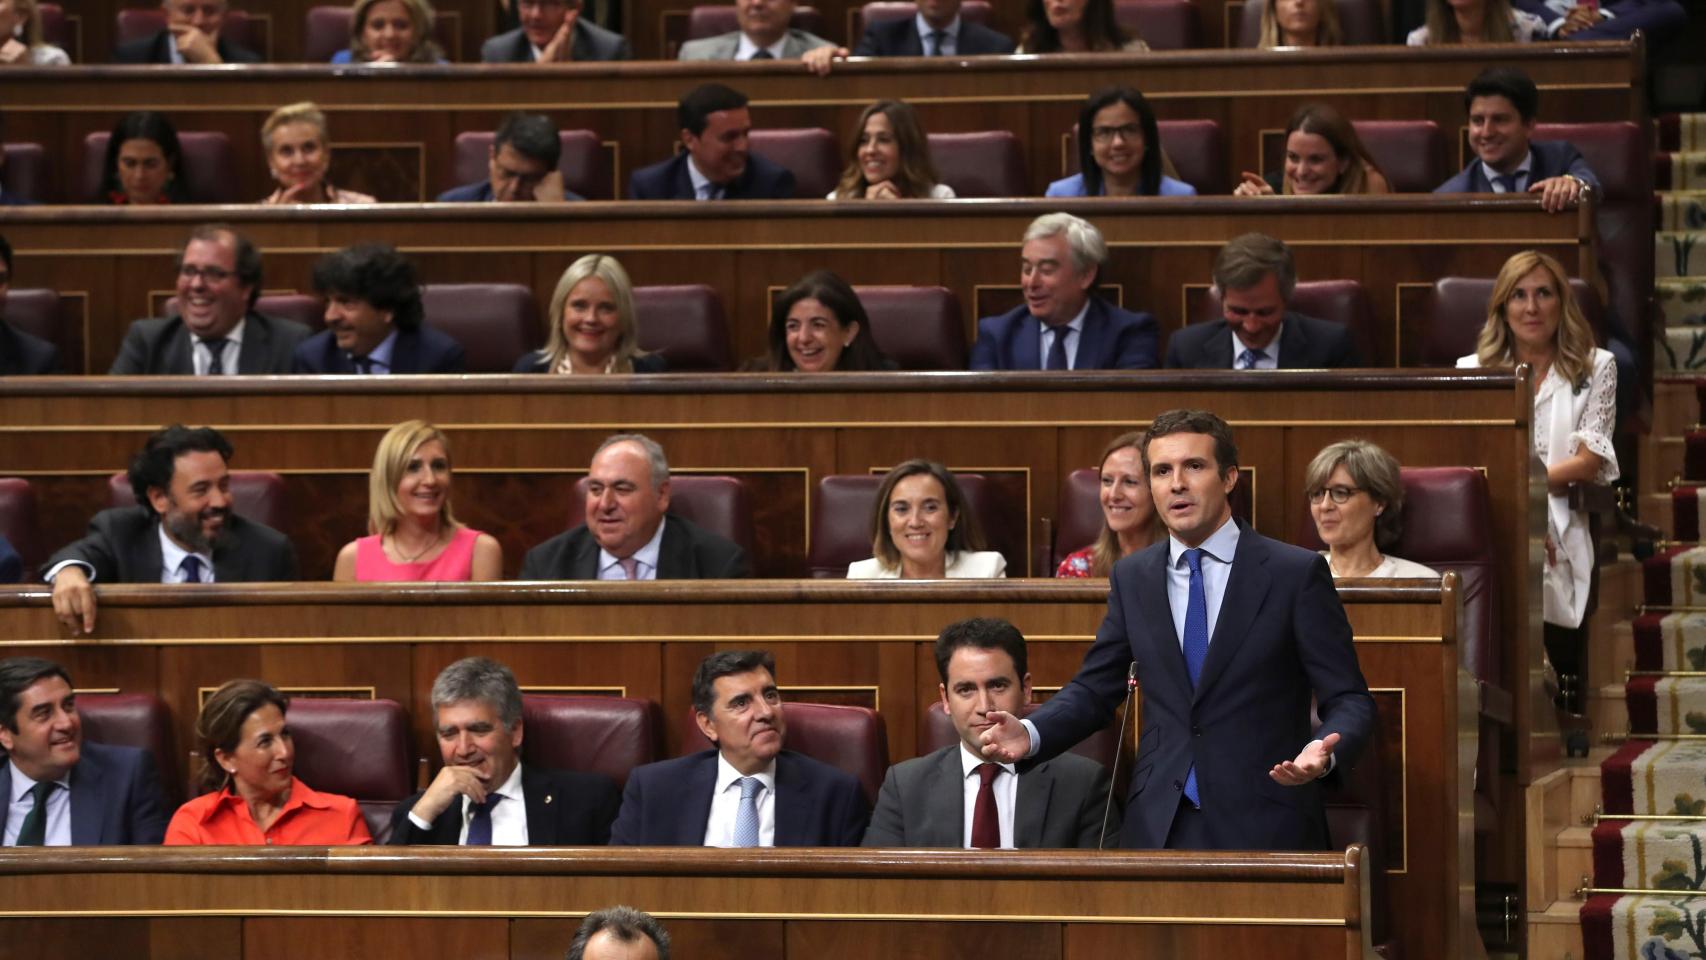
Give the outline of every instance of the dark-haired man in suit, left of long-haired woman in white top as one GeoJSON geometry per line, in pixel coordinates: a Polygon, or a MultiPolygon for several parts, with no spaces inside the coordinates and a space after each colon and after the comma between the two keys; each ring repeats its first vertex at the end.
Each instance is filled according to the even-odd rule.
{"type": "Polygon", "coordinates": [[[628,177],[630,200],[793,200],[793,174],[747,148],[747,97],[722,84],[676,104],[686,150],[628,177]]]}

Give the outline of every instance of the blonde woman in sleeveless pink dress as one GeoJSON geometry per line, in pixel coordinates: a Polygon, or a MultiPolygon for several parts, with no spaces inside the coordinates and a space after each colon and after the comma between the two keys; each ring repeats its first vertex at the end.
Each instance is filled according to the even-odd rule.
{"type": "Polygon", "coordinates": [[[409,419],[386,431],[367,479],[368,535],[338,551],[333,580],[498,580],[503,547],[450,515],[450,442],[409,419]]]}

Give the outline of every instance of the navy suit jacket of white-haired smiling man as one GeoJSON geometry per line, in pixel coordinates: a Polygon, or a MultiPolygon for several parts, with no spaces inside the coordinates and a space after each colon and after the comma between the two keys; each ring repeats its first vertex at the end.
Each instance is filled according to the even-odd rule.
{"type": "MultiPolygon", "coordinates": [[[[1090,297],[1078,333],[1073,370],[1148,370],[1160,358],[1155,317],[1133,314],[1090,297]]],[[[971,348],[972,370],[1041,370],[1042,321],[1029,307],[978,321],[978,343],[971,348]]]]}

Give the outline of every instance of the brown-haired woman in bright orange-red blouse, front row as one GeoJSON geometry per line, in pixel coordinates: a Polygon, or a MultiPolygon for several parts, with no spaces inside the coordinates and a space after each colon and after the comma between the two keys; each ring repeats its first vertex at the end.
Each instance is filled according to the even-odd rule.
{"type": "Polygon", "coordinates": [[[297,747],[285,726],[290,697],[261,680],[220,687],[201,716],[201,796],[165,827],[167,846],[353,846],[374,842],[362,808],[319,793],[292,771],[297,747]]]}

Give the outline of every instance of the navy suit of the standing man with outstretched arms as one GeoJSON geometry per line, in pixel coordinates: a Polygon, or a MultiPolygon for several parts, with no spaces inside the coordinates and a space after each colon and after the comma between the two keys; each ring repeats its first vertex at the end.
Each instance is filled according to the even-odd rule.
{"type": "Polygon", "coordinates": [[[1192,689],[1167,599],[1162,541],[1114,564],[1107,617],[1078,675],[1030,714],[1041,749],[1054,757],[1112,718],[1138,663],[1143,735],[1131,767],[1119,846],[1167,842],[1186,772],[1196,764],[1201,817],[1216,849],[1327,849],[1320,786],[1281,786],[1268,771],[1297,757],[1310,733],[1339,733],[1334,755],[1349,769],[1375,726],[1351,624],[1327,561],[1239,525],[1239,547],[1192,689]]]}

